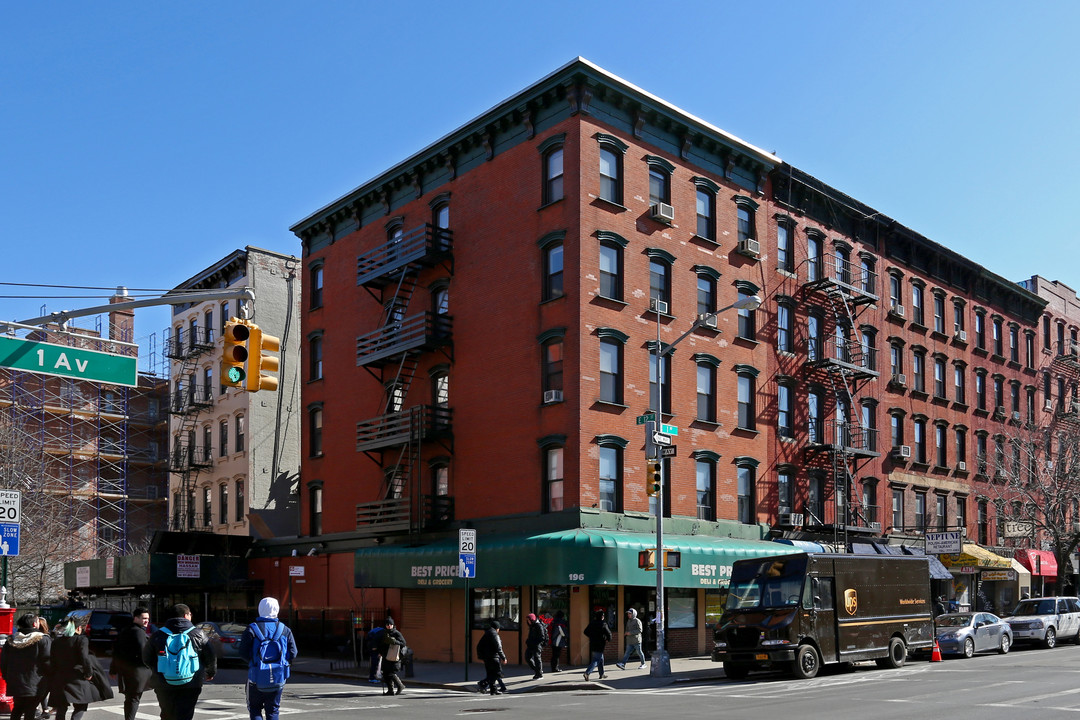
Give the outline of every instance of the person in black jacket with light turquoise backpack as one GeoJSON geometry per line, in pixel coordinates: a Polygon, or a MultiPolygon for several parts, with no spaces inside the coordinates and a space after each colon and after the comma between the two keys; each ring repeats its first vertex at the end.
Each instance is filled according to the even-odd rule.
{"type": "Polygon", "coordinates": [[[217,674],[217,654],[191,624],[191,608],[178,602],[168,614],[143,647],[143,662],[153,668],[161,720],[191,720],[203,682],[217,674]]]}

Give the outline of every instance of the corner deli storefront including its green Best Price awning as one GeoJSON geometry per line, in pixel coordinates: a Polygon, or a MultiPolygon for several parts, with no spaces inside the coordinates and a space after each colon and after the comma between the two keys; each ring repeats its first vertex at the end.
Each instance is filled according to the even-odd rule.
{"type": "MultiPolygon", "coordinates": [[[[498,620],[509,662],[521,663],[528,631],[525,616],[536,613],[550,622],[562,612],[569,626],[569,663],[580,666],[589,657],[582,630],[596,610],[606,611],[611,627],[607,656],[621,657],[630,608],[646,627],[647,649],[654,647],[649,621],[657,610],[657,576],[654,570],[638,567],[638,554],[656,549],[656,535],[580,528],[535,535],[480,533],[476,540],[471,580],[459,574],[456,538],[355,552],[356,588],[397,588],[386,597],[417,657],[463,662],[468,651],[475,660],[476,641],[490,621],[498,620]]],[[[664,572],[665,642],[674,656],[711,651],[732,562],[793,552],[766,541],[670,533],[664,548],[680,554],[679,567],[664,572]]]]}

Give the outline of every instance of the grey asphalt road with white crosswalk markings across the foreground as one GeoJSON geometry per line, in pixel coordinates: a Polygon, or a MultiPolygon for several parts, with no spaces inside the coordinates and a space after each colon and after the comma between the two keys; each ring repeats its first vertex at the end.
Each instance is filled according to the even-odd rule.
{"type": "MultiPolygon", "coordinates": [[[[244,670],[224,669],[206,685],[197,720],[248,720],[244,670]]],[[[122,697],[91,706],[86,720],[121,718],[122,697]]],[[[676,683],[644,690],[575,690],[478,695],[409,688],[384,697],[381,687],[295,676],[285,691],[282,716],[291,720],[340,717],[403,719],[469,718],[679,718],[759,717],[887,720],[890,718],[978,718],[1036,720],[1080,718],[1080,648],[1014,650],[944,663],[913,661],[897,670],[873,663],[852,670],[826,668],[813,680],[752,675],[742,682],[676,683]]],[[[152,693],[140,718],[158,718],[152,693]]]]}

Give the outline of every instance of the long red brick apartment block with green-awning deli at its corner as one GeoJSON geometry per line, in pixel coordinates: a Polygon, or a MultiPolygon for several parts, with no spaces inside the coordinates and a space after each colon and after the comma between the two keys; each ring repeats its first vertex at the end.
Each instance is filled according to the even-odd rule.
{"type": "MultiPolygon", "coordinates": [[[[1045,300],[583,59],[293,231],[301,536],[249,573],[297,613],[389,609],[448,661],[465,623],[498,617],[514,658],[522,615],[563,610],[580,662],[592,610],[656,612],[657,410],[673,654],[711,647],[731,561],[792,543],[962,528],[1011,566],[978,547],[984,486],[1044,419],[1045,300]]],[[[971,602],[967,557],[939,587],[971,602]]]]}

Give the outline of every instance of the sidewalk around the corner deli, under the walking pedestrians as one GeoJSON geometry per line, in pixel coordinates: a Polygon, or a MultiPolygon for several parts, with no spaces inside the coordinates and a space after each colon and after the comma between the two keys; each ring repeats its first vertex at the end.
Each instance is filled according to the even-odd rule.
{"type": "MultiPolygon", "coordinates": [[[[606,677],[604,680],[594,670],[585,681],[583,675],[584,667],[564,669],[561,673],[544,673],[543,678],[532,679],[532,670],[526,665],[503,666],[503,681],[510,692],[558,692],[569,690],[619,690],[619,689],[647,689],[663,688],[679,682],[707,682],[724,680],[724,667],[720,663],[714,663],[707,655],[698,657],[672,657],[672,674],[666,678],[653,678],[649,675],[650,665],[638,670],[637,665],[631,662],[625,670],[620,670],[615,663],[605,664],[606,677]]],[[[337,678],[340,680],[353,680],[357,683],[368,684],[367,664],[364,663],[362,669],[357,669],[346,661],[323,660],[320,657],[296,658],[293,663],[293,673],[302,675],[314,675],[326,678],[337,678]]],[[[461,692],[475,692],[476,682],[484,677],[484,665],[472,663],[469,665],[469,679],[465,680],[464,663],[423,663],[414,664],[414,677],[407,678],[402,673],[402,681],[406,687],[417,688],[440,688],[443,690],[457,690],[461,692]]],[[[381,685],[372,685],[381,687],[381,685]]]]}

